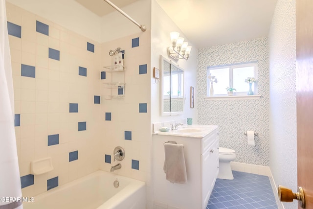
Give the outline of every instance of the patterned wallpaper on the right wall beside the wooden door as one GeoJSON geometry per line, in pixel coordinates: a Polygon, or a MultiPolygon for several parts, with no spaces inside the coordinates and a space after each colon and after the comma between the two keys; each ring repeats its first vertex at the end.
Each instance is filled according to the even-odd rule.
{"type": "MultiPolygon", "coordinates": [[[[276,185],[297,190],[295,0],[278,0],[268,39],[269,164],[276,185]]],[[[297,203],[284,203],[284,206],[294,209],[297,203]]]]}

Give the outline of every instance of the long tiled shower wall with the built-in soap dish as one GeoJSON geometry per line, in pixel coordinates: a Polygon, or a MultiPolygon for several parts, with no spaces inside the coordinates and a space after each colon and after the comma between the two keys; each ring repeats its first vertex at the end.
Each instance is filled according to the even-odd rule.
{"type": "Polygon", "coordinates": [[[6,3],[23,196],[99,169],[101,46],[6,3]],[[52,157],[54,170],[30,174],[52,157]]]}

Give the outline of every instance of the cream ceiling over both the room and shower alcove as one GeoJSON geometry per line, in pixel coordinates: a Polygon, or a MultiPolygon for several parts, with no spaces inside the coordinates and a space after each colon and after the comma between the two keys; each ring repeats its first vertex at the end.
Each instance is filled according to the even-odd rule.
{"type": "MultiPolygon", "coordinates": [[[[114,9],[104,0],[76,0],[102,17],[114,9]]],[[[112,0],[118,7],[136,0],[112,0]]],[[[156,0],[198,48],[268,36],[277,0],[156,0]]]]}

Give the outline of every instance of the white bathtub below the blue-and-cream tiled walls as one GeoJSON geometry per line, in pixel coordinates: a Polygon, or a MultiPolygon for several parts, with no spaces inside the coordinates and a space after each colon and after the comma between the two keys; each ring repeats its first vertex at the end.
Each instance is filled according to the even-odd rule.
{"type": "Polygon", "coordinates": [[[24,203],[24,209],[145,209],[145,183],[96,171],[24,203]],[[119,182],[118,188],[113,182],[119,182]]]}

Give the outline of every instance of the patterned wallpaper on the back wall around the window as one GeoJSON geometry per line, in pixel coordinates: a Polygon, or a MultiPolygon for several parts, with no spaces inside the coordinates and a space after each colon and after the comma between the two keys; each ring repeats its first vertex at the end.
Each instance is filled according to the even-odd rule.
{"type": "Polygon", "coordinates": [[[220,146],[236,151],[235,162],[269,164],[269,70],[268,38],[259,38],[223,46],[199,49],[198,53],[198,124],[220,126],[220,146]],[[246,62],[258,63],[256,100],[206,100],[208,66],[246,62]],[[255,147],[249,147],[244,132],[254,130],[255,147]]]}

